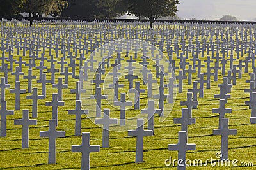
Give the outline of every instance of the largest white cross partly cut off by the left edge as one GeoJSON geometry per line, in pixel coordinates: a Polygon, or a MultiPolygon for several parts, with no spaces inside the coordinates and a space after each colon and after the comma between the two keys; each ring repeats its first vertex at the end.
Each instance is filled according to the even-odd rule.
{"type": "Polygon", "coordinates": [[[1,116],[1,131],[0,136],[6,137],[6,116],[7,115],[14,115],[13,110],[7,110],[7,101],[0,101],[1,102],[1,110],[0,110],[0,116],[1,116]]]}

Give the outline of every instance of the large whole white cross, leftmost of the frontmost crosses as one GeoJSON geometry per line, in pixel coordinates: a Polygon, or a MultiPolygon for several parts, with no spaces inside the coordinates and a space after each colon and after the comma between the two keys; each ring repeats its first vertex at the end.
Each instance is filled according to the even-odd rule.
{"type": "Polygon", "coordinates": [[[49,120],[49,130],[40,131],[40,137],[49,138],[48,164],[56,164],[56,138],[64,138],[65,131],[56,131],[56,120],[49,120]]]}

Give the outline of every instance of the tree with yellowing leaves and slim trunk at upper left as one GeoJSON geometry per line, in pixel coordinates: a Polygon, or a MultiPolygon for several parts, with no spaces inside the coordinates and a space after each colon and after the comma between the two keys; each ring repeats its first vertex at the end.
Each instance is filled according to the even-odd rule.
{"type": "Polygon", "coordinates": [[[68,3],[64,0],[24,0],[22,11],[29,13],[30,27],[32,27],[33,20],[40,15],[61,15],[61,11],[67,6],[68,3]]]}

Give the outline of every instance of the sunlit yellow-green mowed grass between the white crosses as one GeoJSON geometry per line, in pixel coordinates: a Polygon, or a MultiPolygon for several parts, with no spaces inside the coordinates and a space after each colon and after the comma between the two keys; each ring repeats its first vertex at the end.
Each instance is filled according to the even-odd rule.
{"type": "MultiPolygon", "coordinates": [[[[13,57],[19,59],[21,55],[13,57]]],[[[211,54],[211,52],[210,52],[211,54]]],[[[191,53],[189,54],[191,56],[191,53]]],[[[6,53],[8,56],[8,53],[6,53]]],[[[26,53],[29,56],[29,53],[26,53]]],[[[46,50],[45,57],[49,56],[49,50],[46,50]]],[[[63,55],[60,53],[60,57],[63,55]]],[[[77,58],[80,55],[77,55],[77,58]]],[[[234,55],[236,56],[236,55],[234,55]]],[[[245,56],[245,55],[244,55],[245,56]]],[[[54,56],[54,59],[60,60],[54,56]]],[[[205,58],[201,60],[206,60],[205,58]]],[[[128,57],[125,58],[129,59],[128,57]]],[[[176,66],[179,66],[179,59],[174,55],[173,59],[177,60],[176,66]]],[[[244,57],[241,57],[244,59],[244,57]]],[[[22,57],[22,60],[28,63],[29,57],[22,57]]],[[[67,59],[68,61],[68,59],[67,59]]],[[[137,62],[141,62],[140,57],[137,62]]],[[[77,64],[79,63],[76,60],[77,64]]],[[[113,62],[113,61],[112,61],[113,62]]],[[[190,61],[189,61],[190,62],[190,61]]],[[[8,63],[8,62],[6,62],[8,63]]],[[[228,62],[229,63],[229,62],[228,62]]],[[[50,69],[49,62],[44,62],[47,69],[50,69]]],[[[192,62],[190,62],[192,64],[192,62]]],[[[239,64],[238,60],[234,64],[239,64]]],[[[13,64],[13,71],[15,71],[13,64]]],[[[36,66],[39,66],[39,60],[36,60],[36,66]]],[[[66,65],[67,66],[67,65],[66,65]]],[[[213,64],[211,66],[214,66],[213,64]]],[[[149,66],[152,67],[152,66],[149,66]]],[[[249,64],[251,68],[251,65],[249,64]]],[[[56,64],[56,68],[60,69],[60,65],[56,64]]],[[[227,69],[229,67],[227,66],[227,69]]],[[[69,70],[71,72],[71,69],[69,70]]],[[[108,71],[108,70],[107,70],[108,71]]],[[[167,71],[167,69],[165,69],[167,71]]],[[[23,67],[24,75],[28,74],[28,67],[23,67]]],[[[206,68],[202,68],[202,73],[206,72],[206,68]]],[[[252,72],[252,69],[249,69],[252,72]]],[[[46,71],[45,71],[46,73],[46,71]]],[[[76,69],[76,74],[79,74],[79,68],[76,69]]],[[[176,75],[179,71],[176,72],[176,75]]],[[[33,75],[39,77],[39,71],[33,68],[33,75]]],[[[4,74],[0,73],[3,77],[4,74]]],[[[58,82],[60,73],[56,73],[56,83],[58,82]]],[[[51,80],[51,73],[47,73],[47,79],[51,80]]],[[[231,99],[228,99],[226,108],[232,108],[232,114],[226,114],[230,118],[230,129],[237,129],[236,136],[229,137],[229,159],[237,159],[239,165],[241,162],[253,162],[255,164],[255,148],[256,148],[256,132],[255,125],[250,124],[250,110],[245,106],[244,102],[249,100],[249,94],[244,93],[244,89],[249,88],[248,73],[243,73],[243,78],[238,79],[236,85],[232,88],[231,99]]],[[[52,117],[52,108],[45,106],[45,101],[52,101],[52,93],[57,93],[58,89],[53,89],[51,84],[47,84],[47,98],[38,101],[38,124],[29,127],[29,148],[21,148],[21,132],[22,126],[14,125],[15,119],[22,118],[22,110],[29,109],[31,111],[32,101],[26,100],[26,96],[31,94],[21,94],[20,108],[15,110],[15,94],[10,94],[10,89],[15,88],[15,76],[8,73],[8,83],[11,88],[6,90],[7,108],[15,110],[14,115],[7,117],[7,137],[0,138],[0,169],[80,169],[81,168],[81,153],[72,153],[72,145],[81,145],[81,137],[74,136],[75,116],[68,115],[68,110],[73,110],[76,103],[76,94],[70,94],[70,89],[76,87],[74,78],[68,79],[68,89],[63,89],[63,101],[65,106],[58,108],[58,131],[65,131],[65,138],[56,139],[57,164],[49,165],[48,162],[48,138],[40,138],[40,131],[48,131],[49,120],[52,117]]],[[[193,81],[197,80],[196,73],[193,73],[193,81]]],[[[120,89],[120,92],[127,92],[127,80],[120,80],[125,83],[125,88],[120,89]]],[[[21,89],[28,88],[27,80],[20,76],[21,89]]],[[[223,83],[221,71],[218,75],[218,82],[211,81],[211,89],[204,89],[204,98],[198,99],[198,109],[193,110],[193,117],[196,118],[196,124],[188,127],[188,143],[195,143],[196,150],[188,151],[187,159],[201,159],[205,163],[207,159],[216,159],[216,153],[220,152],[221,136],[213,136],[212,130],[218,129],[218,114],[212,113],[212,108],[218,108],[219,101],[214,99],[214,94],[220,94],[218,84],[223,83]]],[[[41,93],[42,85],[33,80],[33,87],[38,87],[38,94],[41,93]]],[[[205,85],[206,87],[206,85],[205,85]]],[[[141,86],[145,89],[145,86],[141,86]]],[[[168,144],[176,144],[178,142],[178,132],[180,124],[173,124],[173,118],[181,117],[181,109],[186,106],[180,106],[180,101],[186,101],[187,89],[192,89],[193,85],[188,85],[188,80],[184,80],[183,93],[177,93],[176,101],[169,117],[162,123],[159,123],[159,117],[155,117],[155,132],[154,136],[144,138],[144,163],[135,163],[136,154],[136,138],[129,137],[127,132],[110,132],[110,148],[100,148],[99,153],[90,154],[90,167],[92,169],[177,169],[173,166],[165,166],[164,161],[172,157],[177,159],[176,151],[168,151],[168,144]]],[[[92,101],[93,102],[93,101],[92,101]]],[[[141,106],[147,103],[147,95],[141,94],[141,106]]],[[[90,103],[92,104],[92,103],[90,103]]],[[[111,115],[118,115],[119,110],[108,106],[106,101],[102,102],[102,108],[111,108],[111,115]]],[[[140,110],[128,110],[127,117],[133,117],[140,114],[140,110]]],[[[145,125],[145,129],[147,124],[145,125]]],[[[102,129],[95,125],[86,115],[82,116],[82,132],[90,132],[91,145],[102,146],[102,129]]],[[[177,165],[177,163],[176,163],[177,165]]],[[[221,167],[207,166],[203,167],[187,167],[188,169],[237,169],[237,167],[221,167]]],[[[253,169],[253,167],[239,167],[239,169],[253,169]]]]}

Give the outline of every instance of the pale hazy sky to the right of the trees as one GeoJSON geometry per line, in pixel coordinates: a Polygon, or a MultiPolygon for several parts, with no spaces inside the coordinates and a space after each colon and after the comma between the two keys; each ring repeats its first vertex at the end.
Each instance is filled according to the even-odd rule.
{"type": "Polygon", "coordinates": [[[214,20],[234,15],[238,20],[256,19],[256,0],[179,0],[180,18],[214,20]]]}

